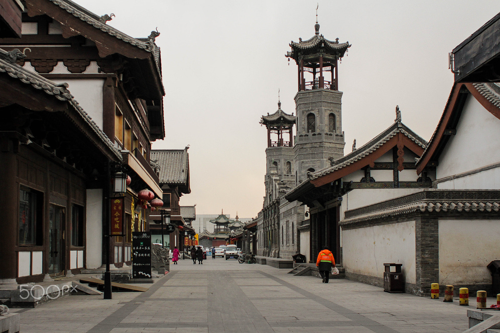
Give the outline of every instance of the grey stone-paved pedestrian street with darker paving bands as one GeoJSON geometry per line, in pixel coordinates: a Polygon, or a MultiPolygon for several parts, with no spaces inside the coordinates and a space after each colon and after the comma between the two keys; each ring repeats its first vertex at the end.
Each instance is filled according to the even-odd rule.
{"type": "MultiPolygon", "coordinates": [[[[223,258],[179,260],[146,292],[73,295],[21,312],[21,332],[461,332],[466,306],[223,258]]],[[[144,285],[144,284],[142,284],[144,285]]],[[[471,298],[471,303],[473,299],[471,298]]],[[[493,301],[493,298],[488,302],[493,301]]],[[[475,303],[474,303],[475,305],[475,303]]],[[[472,308],[470,306],[469,308],[472,308]]]]}

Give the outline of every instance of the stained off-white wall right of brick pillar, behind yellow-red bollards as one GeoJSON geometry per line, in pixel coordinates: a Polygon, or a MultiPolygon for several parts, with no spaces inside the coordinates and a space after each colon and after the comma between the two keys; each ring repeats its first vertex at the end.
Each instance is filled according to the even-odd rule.
{"type": "Polygon", "coordinates": [[[500,220],[439,220],[439,283],[491,283],[486,265],[500,260],[500,220]],[[487,234],[478,233],[487,230],[487,234]],[[470,242],[472,239],[476,241],[470,242]]]}

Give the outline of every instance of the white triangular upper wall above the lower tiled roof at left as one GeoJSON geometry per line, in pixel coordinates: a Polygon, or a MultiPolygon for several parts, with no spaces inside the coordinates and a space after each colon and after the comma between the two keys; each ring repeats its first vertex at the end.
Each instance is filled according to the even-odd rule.
{"type": "Polygon", "coordinates": [[[102,129],[103,78],[58,78],[56,83],[66,82],[74,99],[83,107],[93,121],[102,129]]]}

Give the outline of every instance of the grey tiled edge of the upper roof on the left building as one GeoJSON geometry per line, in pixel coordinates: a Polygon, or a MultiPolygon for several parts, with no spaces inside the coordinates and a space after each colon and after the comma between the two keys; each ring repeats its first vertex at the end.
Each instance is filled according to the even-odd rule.
{"type": "Polygon", "coordinates": [[[153,47],[151,44],[148,42],[144,42],[141,40],[138,40],[137,38],[130,37],[129,35],[121,32],[118,29],[113,28],[112,26],[109,26],[99,20],[100,16],[94,14],[93,12],[81,7],[77,3],[74,3],[71,0],[49,0],[62,9],[66,10],[68,13],[72,14],[75,17],[78,17],[82,21],[87,22],[88,24],[93,25],[94,27],[112,35],[115,36],[116,38],[119,38],[123,41],[126,41],[127,43],[130,43],[134,46],[137,46],[139,48],[152,51],[153,47]]]}

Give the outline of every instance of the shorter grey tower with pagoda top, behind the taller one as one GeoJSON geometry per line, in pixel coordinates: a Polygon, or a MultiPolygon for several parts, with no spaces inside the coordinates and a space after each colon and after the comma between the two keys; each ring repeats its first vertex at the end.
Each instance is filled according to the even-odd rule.
{"type": "MultiPolygon", "coordinates": [[[[278,188],[292,188],[295,185],[294,152],[293,152],[293,124],[295,116],[281,110],[278,101],[276,112],[262,115],[259,121],[267,128],[267,148],[265,149],[265,190],[266,200],[271,192],[271,181],[278,188]]],[[[275,194],[273,195],[275,197],[275,194]]],[[[271,198],[272,200],[273,198],[271,198]]]]}

